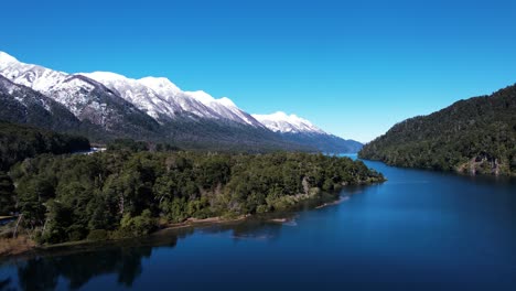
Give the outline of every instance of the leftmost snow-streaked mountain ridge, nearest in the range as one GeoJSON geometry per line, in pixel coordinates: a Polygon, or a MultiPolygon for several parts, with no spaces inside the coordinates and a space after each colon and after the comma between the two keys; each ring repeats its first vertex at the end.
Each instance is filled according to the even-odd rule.
{"type": "Polygon", "coordinates": [[[157,129],[155,121],[148,115],[85,76],[25,64],[2,52],[0,75],[43,94],[66,107],[79,120],[87,120],[107,131],[157,129]]]}

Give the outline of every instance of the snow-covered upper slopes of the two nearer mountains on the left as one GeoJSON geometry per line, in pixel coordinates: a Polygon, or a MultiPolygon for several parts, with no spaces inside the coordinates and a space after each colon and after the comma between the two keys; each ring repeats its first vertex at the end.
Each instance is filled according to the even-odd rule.
{"type": "Polygon", "coordinates": [[[215,99],[204,91],[182,91],[166,78],[132,79],[110,72],[66,74],[19,62],[3,52],[0,52],[0,75],[55,99],[82,120],[94,119],[94,123],[106,122],[109,108],[98,96],[109,95],[123,98],[157,121],[190,116],[262,127],[228,98],[215,99]],[[97,117],[89,118],[93,115],[97,117]]]}

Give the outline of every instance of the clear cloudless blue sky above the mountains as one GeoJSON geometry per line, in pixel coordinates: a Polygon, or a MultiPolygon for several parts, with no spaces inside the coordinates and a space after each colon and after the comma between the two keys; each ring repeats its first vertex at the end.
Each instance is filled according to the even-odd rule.
{"type": "Polygon", "coordinates": [[[516,1],[3,1],[0,50],[69,73],[164,76],[369,141],[516,83],[516,1]]]}

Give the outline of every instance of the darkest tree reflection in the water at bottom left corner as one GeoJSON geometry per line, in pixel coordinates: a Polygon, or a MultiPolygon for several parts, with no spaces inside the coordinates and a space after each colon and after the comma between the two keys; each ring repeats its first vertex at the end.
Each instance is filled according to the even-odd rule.
{"type": "MultiPolygon", "coordinates": [[[[184,234],[179,234],[184,235],[184,234]]],[[[175,247],[178,235],[149,237],[140,240],[117,242],[104,249],[75,250],[68,255],[49,255],[26,260],[18,267],[20,288],[24,290],[51,290],[57,287],[58,278],[68,281],[69,289],[78,289],[101,274],[116,273],[118,283],[131,287],[141,274],[142,258],[149,258],[153,246],[175,247]]],[[[9,288],[11,279],[0,281],[9,288]]]]}

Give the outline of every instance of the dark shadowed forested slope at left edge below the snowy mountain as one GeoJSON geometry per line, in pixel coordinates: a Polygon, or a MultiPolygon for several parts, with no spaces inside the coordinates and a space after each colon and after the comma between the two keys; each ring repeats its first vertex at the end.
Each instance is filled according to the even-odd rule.
{"type": "Polygon", "coordinates": [[[69,153],[89,150],[89,141],[83,137],[60,134],[0,121],[0,171],[40,153],[69,153]]]}

